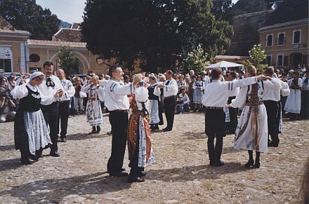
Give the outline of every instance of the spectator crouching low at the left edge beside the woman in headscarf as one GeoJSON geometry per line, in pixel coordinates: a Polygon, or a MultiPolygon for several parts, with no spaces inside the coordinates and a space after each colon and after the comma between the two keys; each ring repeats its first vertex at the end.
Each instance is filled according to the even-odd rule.
{"type": "Polygon", "coordinates": [[[0,123],[11,122],[15,118],[15,104],[11,97],[0,97],[0,123]]]}

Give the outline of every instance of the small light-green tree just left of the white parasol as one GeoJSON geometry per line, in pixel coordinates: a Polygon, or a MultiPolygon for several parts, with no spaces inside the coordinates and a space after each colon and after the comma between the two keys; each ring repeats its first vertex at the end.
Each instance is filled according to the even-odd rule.
{"type": "Polygon", "coordinates": [[[207,64],[209,64],[207,53],[203,50],[202,45],[199,44],[197,48],[185,54],[182,67],[185,72],[193,69],[195,73],[200,73],[205,69],[207,64]]]}

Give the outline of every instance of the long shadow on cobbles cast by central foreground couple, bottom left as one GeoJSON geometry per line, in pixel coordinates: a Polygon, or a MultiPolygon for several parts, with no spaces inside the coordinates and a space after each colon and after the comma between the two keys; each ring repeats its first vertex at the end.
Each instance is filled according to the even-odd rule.
{"type": "Polygon", "coordinates": [[[129,189],[131,185],[126,179],[127,177],[103,176],[103,172],[60,179],[43,179],[11,186],[12,189],[1,191],[0,196],[9,194],[27,203],[59,203],[70,195],[106,194],[129,189]]]}

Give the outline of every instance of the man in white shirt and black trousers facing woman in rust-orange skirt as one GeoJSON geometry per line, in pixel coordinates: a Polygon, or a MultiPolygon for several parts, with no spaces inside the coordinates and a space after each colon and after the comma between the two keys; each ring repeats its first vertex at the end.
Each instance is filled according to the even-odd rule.
{"type": "MultiPolygon", "coordinates": [[[[124,152],[126,151],[126,134],[129,125],[129,98],[139,81],[124,85],[124,72],[121,67],[112,65],[109,69],[111,76],[105,91],[105,107],[110,111],[110,125],[112,125],[112,153],[107,163],[110,176],[124,177],[124,152]]],[[[138,182],[138,181],[136,181],[138,182]]]]}

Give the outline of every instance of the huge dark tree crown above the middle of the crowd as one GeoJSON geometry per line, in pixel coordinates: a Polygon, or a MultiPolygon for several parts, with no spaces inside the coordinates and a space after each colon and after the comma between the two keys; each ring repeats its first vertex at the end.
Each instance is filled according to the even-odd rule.
{"type": "Polygon", "coordinates": [[[209,57],[225,53],[232,27],[211,14],[210,0],[88,0],[82,23],[87,47],[103,58],[145,71],[174,67],[199,44],[209,57]]]}

